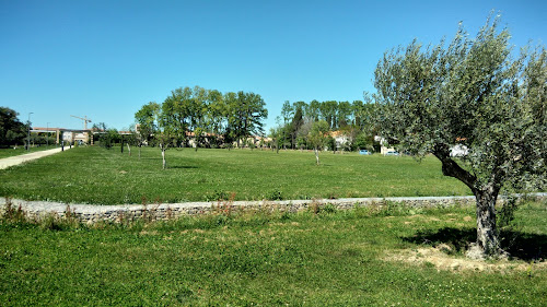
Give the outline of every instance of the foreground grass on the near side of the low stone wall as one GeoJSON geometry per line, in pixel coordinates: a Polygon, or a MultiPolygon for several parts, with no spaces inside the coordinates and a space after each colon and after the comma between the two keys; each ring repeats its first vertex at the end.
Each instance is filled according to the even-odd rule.
{"type": "Polygon", "coordinates": [[[510,251],[528,262],[484,270],[464,265],[470,216],[472,206],[371,206],[125,225],[3,220],[0,305],[546,306],[547,267],[531,262],[547,249],[546,204],[517,211],[510,251]],[[441,243],[449,251],[420,256],[441,243]],[[393,260],[405,252],[423,261],[393,260]]]}

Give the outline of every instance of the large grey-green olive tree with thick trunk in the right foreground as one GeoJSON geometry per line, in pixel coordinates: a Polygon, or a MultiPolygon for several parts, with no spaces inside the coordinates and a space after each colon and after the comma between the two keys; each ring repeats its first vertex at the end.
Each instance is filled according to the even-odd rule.
{"type": "Polygon", "coordinates": [[[496,227],[500,190],[546,185],[545,47],[516,55],[499,17],[475,38],[459,26],[451,42],[412,42],[386,51],[374,76],[377,125],[384,138],[417,156],[433,154],[445,176],[476,198],[477,241],[468,256],[503,252],[496,227]],[[451,156],[461,146],[467,153],[451,156]]]}

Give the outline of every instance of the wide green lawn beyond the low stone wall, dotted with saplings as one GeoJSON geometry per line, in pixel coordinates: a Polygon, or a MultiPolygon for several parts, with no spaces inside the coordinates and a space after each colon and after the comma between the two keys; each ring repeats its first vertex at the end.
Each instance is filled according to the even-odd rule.
{"type": "Polygon", "coordinates": [[[434,157],[314,154],[300,151],[168,150],[129,156],[119,147],[75,147],[0,170],[0,197],[119,204],[147,202],[463,196],[469,189],[441,173],[434,157]]]}

